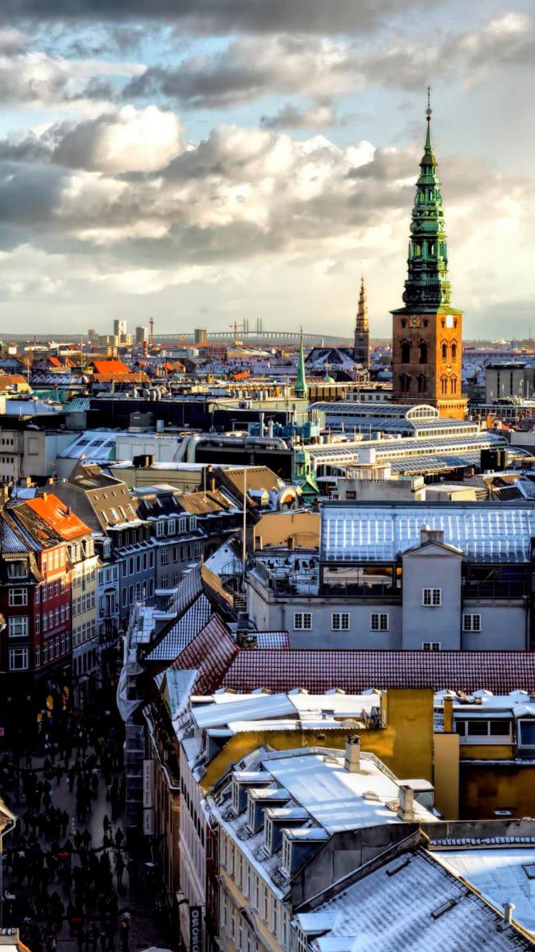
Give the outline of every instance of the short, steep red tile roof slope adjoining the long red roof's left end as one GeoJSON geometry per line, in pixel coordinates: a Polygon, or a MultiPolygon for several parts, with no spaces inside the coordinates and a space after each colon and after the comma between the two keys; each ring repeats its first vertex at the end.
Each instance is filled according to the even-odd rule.
{"type": "Polygon", "coordinates": [[[170,665],[176,671],[198,669],[192,694],[212,694],[221,686],[228,665],[238,648],[225,622],[214,613],[208,625],[187,645],[170,665]]]}

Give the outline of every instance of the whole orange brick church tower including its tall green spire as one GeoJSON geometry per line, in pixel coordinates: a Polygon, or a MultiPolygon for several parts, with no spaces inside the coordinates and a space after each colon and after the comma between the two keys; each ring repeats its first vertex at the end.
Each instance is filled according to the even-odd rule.
{"type": "Polygon", "coordinates": [[[441,417],[463,420],[463,311],[451,304],[446,222],[431,141],[429,102],[426,117],[426,144],[410,224],[405,307],[391,312],[392,400],[431,404],[441,417]]]}

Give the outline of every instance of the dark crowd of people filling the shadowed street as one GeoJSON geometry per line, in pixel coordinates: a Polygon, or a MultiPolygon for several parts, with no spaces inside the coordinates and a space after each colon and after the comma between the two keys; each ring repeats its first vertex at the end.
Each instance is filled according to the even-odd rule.
{"type": "Polygon", "coordinates": [[[117,943],[129,952],[129,912],[120,905],[138,865],[120,821],[121,725],[112,710],[41,713],[36,749],[0,762],[3,795],[11,787],[6,799],[20,821],[5,844],[3,925],[17,925],[31,952],[55,952],[66,940],[78,952],[117,943]],[[93,808],[104,797],[108,812],[95,829],[93,808]]]}

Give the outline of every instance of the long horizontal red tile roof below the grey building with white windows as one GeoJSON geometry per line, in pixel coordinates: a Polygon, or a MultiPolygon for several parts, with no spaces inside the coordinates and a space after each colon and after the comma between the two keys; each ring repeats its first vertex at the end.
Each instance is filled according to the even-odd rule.
{"type": "Polygon", "coordinates": [[[449,688],[494,694],[535,689],[535,651],[335,651],[281,648],[240,651],[223,687],[240,692],[264,687],[305,687],[322,694],[341,687],[358,694],[370,687],[449,688]]]}

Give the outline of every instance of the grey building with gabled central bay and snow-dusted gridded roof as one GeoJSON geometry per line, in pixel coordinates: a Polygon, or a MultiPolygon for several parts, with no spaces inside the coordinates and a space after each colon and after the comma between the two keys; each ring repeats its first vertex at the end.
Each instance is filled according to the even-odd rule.
{"type": "Polygon", "coordinates": [[[259,630],[292,647],[531,648],[529,502],[326,503],[320,549],[264,549],[248,573],[259,630]]]}

